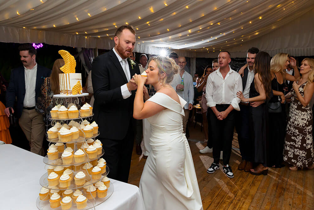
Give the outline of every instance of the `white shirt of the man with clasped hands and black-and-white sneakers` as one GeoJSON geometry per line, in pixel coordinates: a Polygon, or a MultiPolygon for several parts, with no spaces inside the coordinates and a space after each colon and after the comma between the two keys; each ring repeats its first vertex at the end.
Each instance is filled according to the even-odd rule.
{"type": "Polygon", "coordinates": [[[220,68],[208,76],[205,95],[206,105],[213,107],[216,104],[231,104],[235,110],[240,111],[240,99],[236,93],[242,91],[241,76],[232,70],[230,66],[229,69],[225,79],[220,73],[220,68]]]}

